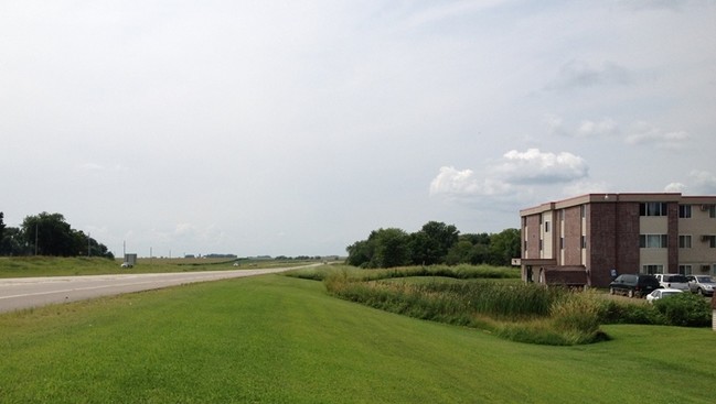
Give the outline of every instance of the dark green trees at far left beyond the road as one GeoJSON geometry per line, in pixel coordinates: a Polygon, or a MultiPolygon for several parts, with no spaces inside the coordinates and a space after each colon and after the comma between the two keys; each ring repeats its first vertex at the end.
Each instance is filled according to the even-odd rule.
{"type": "Polygon", "coordinates": [[[115,259],[105,244],[75,230],[61,214],[28,216],[19,228],[8,227],[0,211],[0,255],[104,256],[115,259]]]}

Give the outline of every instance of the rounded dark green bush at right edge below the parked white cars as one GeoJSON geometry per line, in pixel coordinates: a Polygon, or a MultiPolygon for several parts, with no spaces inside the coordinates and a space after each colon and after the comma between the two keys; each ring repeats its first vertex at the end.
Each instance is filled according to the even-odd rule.
{"type": "Polygon", "coordinates": [[[710,305],[698,295],[680,293],[654,302],[654,309],[666,324],[682,327],[707,327],[712,323],[710,305]]]}

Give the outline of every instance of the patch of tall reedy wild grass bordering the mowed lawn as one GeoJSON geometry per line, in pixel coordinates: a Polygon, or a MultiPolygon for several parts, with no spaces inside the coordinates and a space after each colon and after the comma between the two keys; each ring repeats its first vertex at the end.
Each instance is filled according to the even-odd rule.
{"type": "Polygon", "coordinates": [[[324,284],[330,293],[348,301],[410,317],[477,327],[515,341],[577,345],[607,338],[599,330],[601,306],[594,293],[487,281],[364,282],[349,271],[334,271],[324,284]]]}

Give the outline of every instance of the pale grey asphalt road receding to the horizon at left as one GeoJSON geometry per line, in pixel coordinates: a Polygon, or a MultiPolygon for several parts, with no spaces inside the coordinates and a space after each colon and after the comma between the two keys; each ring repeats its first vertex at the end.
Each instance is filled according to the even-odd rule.
{"type": "Polygon", "coordinates": [[[49,304],[149,291],[195,282],[278,273],[295,270],[296,267],[297,266],[265,270],[178,272],[159,274],[0,279],[0,312],[12,312],[49,304]]]}

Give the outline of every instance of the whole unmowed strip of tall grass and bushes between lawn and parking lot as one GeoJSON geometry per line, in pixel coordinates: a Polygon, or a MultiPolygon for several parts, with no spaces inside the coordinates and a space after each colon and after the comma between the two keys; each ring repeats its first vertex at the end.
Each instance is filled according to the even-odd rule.
{"type": "MultiPolygon", "coordinates": [[[[287,275],[321,280],[341,298],[415,318],[479,328],[502,338],[542,345],[609,339],[602,324],[710,326],[701,297],[683,294],[645,305],[619,303],[590,290],[574,292],[520,282],[520,272],[493,266],[410,266],[359,270],[312,267],[287,275]]],[[[641,304],[639,304],[639,303],[641,304]]]]}

